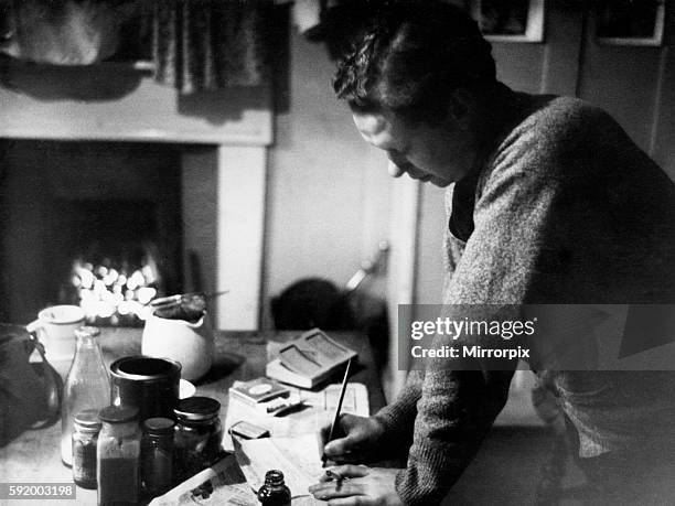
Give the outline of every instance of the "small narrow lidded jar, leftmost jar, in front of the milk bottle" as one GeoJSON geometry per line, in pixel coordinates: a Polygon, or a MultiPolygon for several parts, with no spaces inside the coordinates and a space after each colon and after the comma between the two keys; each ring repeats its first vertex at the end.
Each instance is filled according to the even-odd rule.
{"type": "Polygon", "coordinates": [[[73,423],[73,481],[83,488],[96,488],[96,443],[100,431],[98,411],[85,409],[73,423]]]}

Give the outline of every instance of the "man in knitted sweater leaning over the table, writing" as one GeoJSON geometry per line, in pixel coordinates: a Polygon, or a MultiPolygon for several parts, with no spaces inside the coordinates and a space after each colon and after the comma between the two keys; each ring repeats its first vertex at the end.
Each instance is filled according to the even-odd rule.
{"type": "MultiPolygon", "coordinates": [[[[499,83],[476,24],[444,2],[390,2],[366,24],[334,88],[392,176],[448,187],[444,304],[675,301],[674,185],[613,119],[499,83]]],[[[531,365],[559,399],[593,499],[673,502],[675,376],[559,370],[556,359],[531,365]]],[[[331,505],[439,503],[515,367],[468,362],[430,363],[375,416],[343,416],[344,437],[324,452],[349,480],[310,492],[331,505]],[[401,446],[406,469],[354,465],[401,446]]]]}

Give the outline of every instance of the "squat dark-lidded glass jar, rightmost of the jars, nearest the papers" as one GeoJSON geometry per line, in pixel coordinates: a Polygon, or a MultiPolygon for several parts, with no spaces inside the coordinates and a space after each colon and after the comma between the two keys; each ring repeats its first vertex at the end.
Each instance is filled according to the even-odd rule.
{"type": "Polygon", "coordinates": [[[210,397],[180,400],[173,410],[176,418],[174,473],[182,482],[213,465],[223,454],[223,426],[218,418],[221,403],[210,397]]]}

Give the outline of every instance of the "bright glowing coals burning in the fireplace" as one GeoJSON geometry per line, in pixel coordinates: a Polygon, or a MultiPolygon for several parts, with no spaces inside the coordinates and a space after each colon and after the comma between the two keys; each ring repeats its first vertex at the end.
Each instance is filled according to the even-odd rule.
{"type": "Polygon", "coordinates": [[[148,303],[158,294],[153,284],[159,282],[159,274],[151,259],[139,269],[115,269],[76,259],[71,282],[87,320],[109,319],[116,325],[120,316],[146,320],[150,315],[148,303]]]}

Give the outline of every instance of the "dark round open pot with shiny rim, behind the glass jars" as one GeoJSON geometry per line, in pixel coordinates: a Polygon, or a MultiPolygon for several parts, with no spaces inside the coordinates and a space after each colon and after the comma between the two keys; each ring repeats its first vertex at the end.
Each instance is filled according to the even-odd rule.
{"type": "Polygon", "coordinates": [[[143,355],[122,357],[110,364],[110,402],[135,406],[140,419],[174,418],[179,400],[181,364],[143,355]]]}

